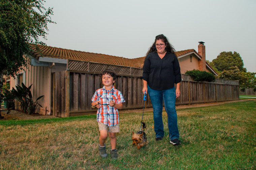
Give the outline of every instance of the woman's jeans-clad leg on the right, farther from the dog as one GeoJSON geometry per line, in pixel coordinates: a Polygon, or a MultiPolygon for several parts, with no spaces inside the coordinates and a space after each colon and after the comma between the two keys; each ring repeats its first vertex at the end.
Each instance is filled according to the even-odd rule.
{"type": "Polygon", "coordinates": [[[175,109],[176,92],[175,87],[163,90],[164,108],[167,113],[168,129],[170,140],[179,139],[179,129],[177,124],[177,113],[175,109]]]}

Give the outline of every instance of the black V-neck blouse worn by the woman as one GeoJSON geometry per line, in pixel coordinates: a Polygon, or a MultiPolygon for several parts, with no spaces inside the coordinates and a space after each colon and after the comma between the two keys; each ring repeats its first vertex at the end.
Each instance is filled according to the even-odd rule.
{"type": "Polygon", "coordinates": [[[157,52],[149,53],[144,61],[141,78],[154,90],[173,88],[174,83],[181,82],[181,68],[177,57],[169,51],[162,59],[157,52]]]}

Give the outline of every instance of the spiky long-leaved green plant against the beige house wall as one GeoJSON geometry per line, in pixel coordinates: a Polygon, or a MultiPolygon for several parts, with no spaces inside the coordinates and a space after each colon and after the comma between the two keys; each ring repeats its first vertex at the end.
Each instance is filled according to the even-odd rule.
{"type": "Polygon", "coordinates": [[[38,100],[41,99],[43,96],[40,96],[36,99],[36,101],[33,101],[33,97],[30,91],[31,86],[32,84],[27,88],[25,84],[22,83],[22,86],[16,86],[17,90],[12,88],[13,98],[19,101],[19,106],[21,110],[24,113],[28,112],[28,114],[34,114],[37,109],[37,106],[42,107],[38,103],[38,100]]]}

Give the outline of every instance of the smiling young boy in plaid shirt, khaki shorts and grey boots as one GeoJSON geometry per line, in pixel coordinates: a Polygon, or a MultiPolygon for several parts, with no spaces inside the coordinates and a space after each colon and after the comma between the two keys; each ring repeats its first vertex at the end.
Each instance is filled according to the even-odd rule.
{"type": "Polygon", "coordinates": [[[103,158],[107,157],[105,141],[108,136],[110,138],[112,159],[117,159],[117,138],[116,133],[119,132],[119,114],[118,109],[123,108],[125,102],[120,91],[115,89],[113,84],[116,81],[116,73],[113,70],[106,69],[101,73],[103,88],[98,89],[92,97],[92,106],[98,108],[97,122],[100,131],[99,152],[103,158]]]}

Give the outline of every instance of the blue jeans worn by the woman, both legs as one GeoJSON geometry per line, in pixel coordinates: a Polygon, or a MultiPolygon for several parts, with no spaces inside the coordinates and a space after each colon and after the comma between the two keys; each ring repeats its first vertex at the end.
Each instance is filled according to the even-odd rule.
{"type": "Polygon", "coordinates": [[[179,139],[180,134],[177,124],[177,113],[175,110],[176,91],[175,87],[167,90],[154,90],[148,86],[148,94],[153,106],[154,128],[156,137],[163,138],[164,125],[162,119],[163,102],[167,113],[170,140],[179,139]]]}

